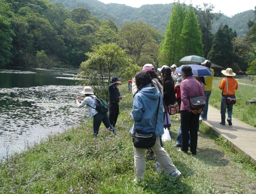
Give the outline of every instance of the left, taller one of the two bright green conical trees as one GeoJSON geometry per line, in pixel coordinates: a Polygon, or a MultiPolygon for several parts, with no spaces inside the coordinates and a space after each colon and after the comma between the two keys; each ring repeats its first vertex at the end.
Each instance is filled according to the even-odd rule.
{"type": "Polygon", "coordinates": [[[174,3],[171,17],[166,27],[165,39],[160,48],[160,65],[170,66],[171,64],[177,64],[182,58],[179,41],[185,15],[185,4],[174,3]]]}

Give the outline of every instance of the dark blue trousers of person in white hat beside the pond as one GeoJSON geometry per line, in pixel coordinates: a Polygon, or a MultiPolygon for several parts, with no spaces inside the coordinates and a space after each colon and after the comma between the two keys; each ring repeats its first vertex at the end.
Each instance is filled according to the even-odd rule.
{"type": "Polygon", "coordinates": [[[99,133],[99,127],[102,122],[107,129],[110,128],[115,130],[109,122],[108,113],[97,113],[93,116],[93,134],[99,133]]]}

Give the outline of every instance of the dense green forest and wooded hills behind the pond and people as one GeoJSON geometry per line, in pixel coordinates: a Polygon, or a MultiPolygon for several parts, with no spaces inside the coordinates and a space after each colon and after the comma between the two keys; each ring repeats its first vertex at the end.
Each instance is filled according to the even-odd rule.
{"type": "MultiPolygon", "coordinates": [[[[226,16],[213,13],[213,5],[204,4],[203,7],[196,8],[181,3],[177,5],[183,10],[182,14],[177,16],[181,21],[178,24],[180,31],[176,32],[180,33],[179,38],[176,37],[179,45],[183,45],[182,41],[187,43],[192,36],[194,42],[190,43],[196,43],[198,48],[190,49],[188,45],[181,48],[178,44],[175,46],[172,43],[172,46],[179,50],[179,54],[169,60],[170,63],[177,64],[179,58],[185,55],[200,55],[222,67],[232,67],[236,71],[247,70],[249,64],[255,60],[255,18],[246,21],[249,24],[247,29],[239,29],[239,33],[242,31],[244,34],[243,38],[239,38],[238,32],[227,24],[221,23],[218,29],[214,29],[213,24],[226,16]],[[182,32],[184,25],[189,22],[188,16],[186,19],[188,12],[194,21],[196,20],[193,27],[197,33],[194,35],[191,34],[192,29],[182,32]],[[218,41],[221,37],[228,40],[224,38],[225,40],[218,41]]],[[[175,3],[142,6],[137,13],[134,12],[136,8],[124,6],[116,3],[105,5],[97,0],[72,3],[0,0],[0,67],[77,68],[82,62],[87,61],[88,53],[92,51],[93,46],[109,43],[120,46],[132,59],[132,63],[138,66],[151,63],[158,67],[166,63],[163,50],[165,42],[170,38],[167,32],[172,31],[169,29],[169,23],[173,20],[172,11],[175,3]],[[84,7],[84,3],[87,3],[87,8],[84,7]],[[99,8],[104,8],[105,12],[99,8]],[[152,17],[156,10],[160,10],[155,14],[158,16],[152,17]],[[130,17],[125,17],[128,14],[130,17]],[[139,16],[141,18],[138,18],[139,16]]],[[[239,20],[238,15],[233,16],[236,21],[239,20]]],[[[250,11],[243,15],[252,18],[250,11]]],[[[244,17],[241,20],[244,20],[244,17]]]]}

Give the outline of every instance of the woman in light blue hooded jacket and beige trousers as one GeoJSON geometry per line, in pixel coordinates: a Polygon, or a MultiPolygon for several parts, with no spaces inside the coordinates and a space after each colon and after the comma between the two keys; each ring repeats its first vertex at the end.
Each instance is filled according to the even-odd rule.
{"type": "MultiPolygon", "coordinates": [[[[180,176],[180,171],[177,170],[172,162],[172,159],[160,145],[160,136],[163,135],[163,106],[159,106],[158,101],[163,103],[163,97],[156,87],[152,87],[152,78],[146,71],[139,71],[135,75],[136,86],[139,92],[134,96],[133,110],[130,115],[134,120],[135,130],[140,132],[154,132],[157,136],[154,146],[151,148],[162,166],[166,174],[172,177],[180,176]],[[160,98],[159,98],[160,97],[160,98]],[[157,123],[156,121],[157,116],[157,123]],[[155,119],[153,119],[155,118],[155,119]]],[[[134,147],[134,175],[135,181],[137,178],[143,178],[145,175],[145,149],[134,147]]]]}

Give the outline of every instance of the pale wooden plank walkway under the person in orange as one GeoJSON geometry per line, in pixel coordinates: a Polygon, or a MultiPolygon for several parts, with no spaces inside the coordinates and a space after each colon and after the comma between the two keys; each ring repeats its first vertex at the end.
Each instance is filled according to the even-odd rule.
{"type": "MultiPolygon", "coordinates": [[[[221,125],[220,110],[209,105],[208,120],[202,121],[203,125],[214,130],[216,135],[221,135],[222,139],[227,140],[227,143],[237,152],[245,153],[250,162],[256,164],[256,128],[248,125],[236,118],[232,118],[232,126],[229,126],[226,120],[226,125],[221,125]]],[[[226,114],[227,119],[227,114],[226,114]]]]}

